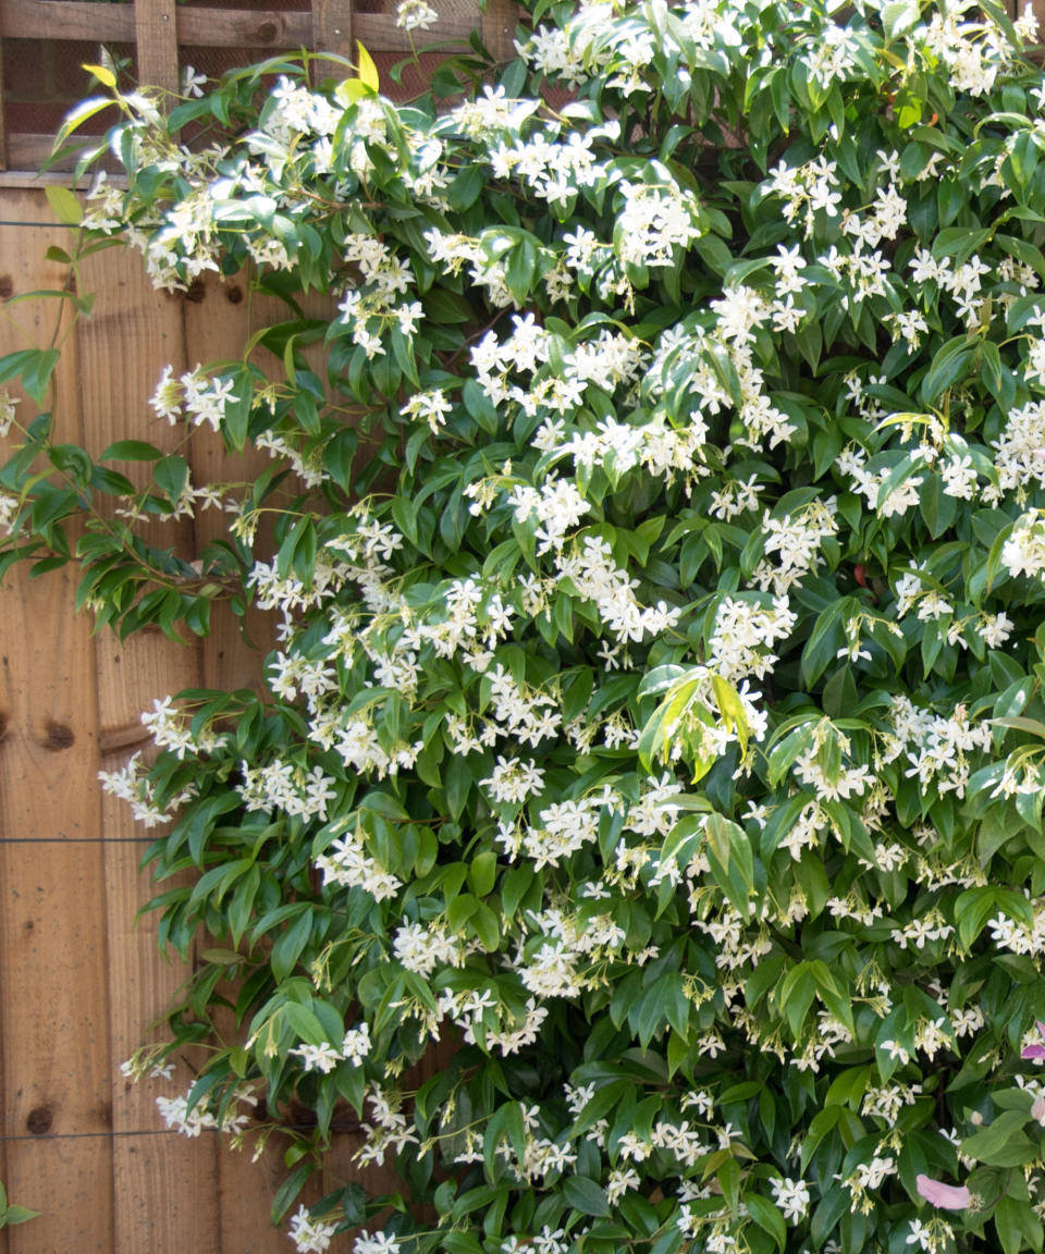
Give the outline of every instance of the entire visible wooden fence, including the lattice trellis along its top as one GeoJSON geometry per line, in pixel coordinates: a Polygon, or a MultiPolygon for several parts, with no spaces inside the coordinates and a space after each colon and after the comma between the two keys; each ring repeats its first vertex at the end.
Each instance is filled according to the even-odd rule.
{"type": "MultiPolygon", "coordinates": [[[[171,89],[187,64],[218,73],[280,49],[350,56],[359,39],[379,65],[406,51],[394,0],[296,4],[304,8],[0,0],[0,302],[66,282],[65,268],[44,258],[65,231],[34,173],[99,43],[132,58],[141,82],[171,89]]],[[[489,0],[484,15],[470,0],[437,4],[429,39],[465,38],[478,21],[487,45],[511,55],[503,0],[489,0]]],[[[245,300],[241,282],[211,275],[167,295],[152,290],[137,255],[89,258],[83,286],[95,293],[94,312],[63,346],[55,439],[95,455],[125,438],[169,448],[179,435],[148,406],[162,369],[238,356],[248,317],[260,326],[285,316],[265,298],[245,300]]],[[[61,303],[5,311],[0,354],[46,342],[61,303]]],[[[197,480],[256,474],[250,453],[227,458],[210,433],[193,434],[188,455],[197,480]]],[[[221,522],[204,513],[181,525],[196,528],[183,540],[198,547],[221,522]]],[[[0,1231],[0,1254],[286,1254],[285,1230],[268,1221],[285,1142],[273,1139],[252,1164],[250,1144],[236,1154],[215,1132],[189,1140],[168,1131],[154,1100],[184,1091],[192,1060],[179,1061],[169,1082],[134,1086],[119,1072],[184,971],[159,956],[148,917],[135,925],[153,894],[138,872],[148,834],[97,779],[143,747],[139,712],[154,698],[257,683],[262,655],[231,614],[217,614],[194,647],[159,633],[92,636],[74,591],[72,568],[30,581],[16,567],[0,588],[0,1179],[13,1203],[43,1213],[0,1231]]],[[[255,632],[263,640],[263,622],[255,632]]],[[[360,1179],[351,1162],[359,1141],[335,1136],[306,1201],[360,1179]]],[[[388,1172],[370,1169],[366,1179],[394,1186],[388,1172]]]]}

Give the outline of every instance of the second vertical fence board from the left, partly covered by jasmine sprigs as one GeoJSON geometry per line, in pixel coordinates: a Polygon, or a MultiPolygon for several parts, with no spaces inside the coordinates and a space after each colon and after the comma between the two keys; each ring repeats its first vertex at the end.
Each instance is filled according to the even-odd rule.
{"type": "MultiPolygon", "coordinates": [[[[88,291],[98,292],[93,317],[79,335],[83,372],[83,415],[88,446],[95,453],[135,433],[164,451],[173,451],[182,433],[162,423],[148,406],[159,372],[173,364],[184,369],[182,298],[154,292],[137,253],[107,251],[84,265],[88,291]]],[[[123,468],[132,478],[141,466],[123,468]]],[[[157,524],[154,538],[188,547],[184,523],[157,524]],[[181,534],[178,534],[181,533],[181,534]]],[[[139,714],[157,697],[198,682],[198,651],[168,641],[159,632],[141,632],[118,641],[99,635],[98,711],[105,770],[122,767],[129,751],[143,747],[139,714]],[[135,745],[137,741],[137,745],[135,745]]],[[[114,798],[103,801],[108,836],[149,835],[133,821],[129,808],[114,798]]],[[[105,846],[107,923],[113,954],[112,1071],[113,1120],[117,1131],[147,1130],[159,1135],[127,1136],[114,1146],[114,1188],[118,1200],[113,1254],[217,1254],[217,1190],[213,1134],[202,1140],[161,1134],[157,1095],[174,1096],[191,1083],[182,1062],[172,1081],[144,1080],[132,1085],[117,1067],[142,1043],[151,1021],[162,1014],[186,972],[166,961],[156,947],[156,922],[138,908],[159,892],[148,873],[138,872],[143,844],[105,846]]],[[[171,887],[164,884],[163,888],[171,887]]],[[[154,1040],[157,1037],[153,1037],[154,1040]]],[[[162,1037],[161,1037],[162,1038],[162,1037]]]]}

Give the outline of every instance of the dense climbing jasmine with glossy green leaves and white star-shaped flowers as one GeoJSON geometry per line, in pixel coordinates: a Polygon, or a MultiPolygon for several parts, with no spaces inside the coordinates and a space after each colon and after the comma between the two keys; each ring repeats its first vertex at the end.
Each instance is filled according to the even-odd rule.
{"type": "MultiPolygon", "coordinates": [[[[493,84],[477,46],[411,104],[360,50],[329,92],[270,64],[66,128],[119,110],[129,189],[98,181],[84,240],[289,306],[153,399],[268,449],[256,483],[95,463],[50,416],[3,470],[13,557],[60,563],[123,493],[75,554],[103,622],[278,614],[263,696],[157,702],[156,764],[107,781],[156,872],[197,872],[163,938],[228,947],[172,1041],[241,977],[242,1041],[164,1111],[314,1111],[278,1210],[365,1120],[413,1200],[350,1186],[300,1250],[1040,1251],[1034,21],[522,18],[493,84]],[[212,503],[194,566],[135,534],[212,503]]],[[[13,360],[43,404],[53,359],[13,360]]]]}

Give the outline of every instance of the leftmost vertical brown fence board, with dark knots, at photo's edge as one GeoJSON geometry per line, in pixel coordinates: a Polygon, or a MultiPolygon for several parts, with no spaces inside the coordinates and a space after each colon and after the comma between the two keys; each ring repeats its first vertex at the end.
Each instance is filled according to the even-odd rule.
{"type": "MultiPolygon", "coordinates": [[[[46,202],[39,192],[8,193],[4,218],[49,218],[46,202]]],[[[13,293],[64,281],[61,267],[43,261],[46,242],[31,226],[0,226],[0,266],[13,293]]],[[[45,339],[58,305],[13,314],[33,340],[45,339]]],[[[0,351],[24,346],[9,324],[0,327],[0,351]]],[[[64,420],[58,438],[79,441],[75,356],[70,345],[55,382],[64,420]]],[[[1,1122],[4,1136],[20,1137],[6,1145],[10,1196],[44,1211],[9,1229],[11,1254],[108,1250],[112,1243],[98,729],[92,641],[73,612],[73,591],[68,569],[30,582],[20,568],[0,588],[0,835],[30,841],[0,844],[1,1122]]]]}

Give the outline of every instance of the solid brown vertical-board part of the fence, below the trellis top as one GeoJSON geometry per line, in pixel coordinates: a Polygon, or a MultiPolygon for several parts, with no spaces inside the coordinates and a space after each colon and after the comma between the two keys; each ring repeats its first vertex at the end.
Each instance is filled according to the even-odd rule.
{"type": "MultiPolygon", "coordinates": [[[[4,189],[0,218],[0,291],[61,285],[64,270],[44,251],[64,232],[48,224],[43,192],[4,189]]],[[[213,277],[191,300],[154,292],[141,258],[117,251],[92,258],[84,282],[98,300],[63,351],[59,438],[94,454],[128,434],[169,444],[171,429],[147,404],[162,367],[238,355],[248,302],[235,280],[213,277]]],[[[56,303],[10,312],[39,336],[56,303]]],[[[253,301],[253,316],[275,319],[263,305],[253,301]]],[[[0,326],[0,352],[24,344],[0,326]]],[[[199,482],[251,474],[250,456],[226,459],[202,433],[191,459],[199,482]]],[[[197,544],[221,525],[212,518],[186,524],[197,544]]],[[[154,697],[250,685],[261,655],[222,616],[198,647],[158,633],[93,637],[74,612],[74,582],[16,569],[0,588],[0,1178],[14,1201],[44,1213],[0,1233],[0,1250],[287,1254],[267,1215],[286,1142],[251,1164],[250,1149],[231,1152],[213,1132],[168,1132],[154,1099],[183,1091],[188,1066],[179,1062],[169,1083],[141,1086],[118,1071],[183,971],[159,957],[148,918],[134,923],[152,895],[138,873],[147,834],[123,803],[99,795],[97,780],[143,746],[138,716],[154,697]]],[[[354,1178],[358,1144],[358,1135],[336,1139],[312,1195],[354,1178]]]]}

